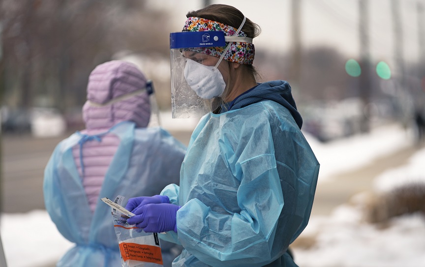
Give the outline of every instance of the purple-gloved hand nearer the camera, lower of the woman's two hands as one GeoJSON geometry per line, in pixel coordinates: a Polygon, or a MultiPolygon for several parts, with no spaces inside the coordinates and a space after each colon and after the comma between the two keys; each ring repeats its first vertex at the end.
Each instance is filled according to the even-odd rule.
{"type": "Polygon", "coordinates": [[[180,206],[174,204],[147,204],[137,210],[139,214],[127,219],[146,233],[177,233],[176,215],[180,206]]]}

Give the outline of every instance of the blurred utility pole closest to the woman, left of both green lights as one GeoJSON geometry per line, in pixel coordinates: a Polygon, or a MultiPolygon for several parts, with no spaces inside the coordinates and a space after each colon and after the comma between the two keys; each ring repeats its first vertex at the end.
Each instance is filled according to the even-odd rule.
{"type": "Polygon", "coordinates": [[[301,84],[301,2],[302,0],[292,0],[292,78],[291,84],[298,89],[301,84]]]}

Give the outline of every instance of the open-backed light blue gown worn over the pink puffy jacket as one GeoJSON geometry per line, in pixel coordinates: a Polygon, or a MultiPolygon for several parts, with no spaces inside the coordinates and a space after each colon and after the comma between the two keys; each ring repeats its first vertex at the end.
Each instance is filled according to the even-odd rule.
{"type": "Polygon", "coordinates": [[[167,131],[121,122],[110,132],[121,142],[105,175],[94,214],[72,156],[72,147],[82,136],[73,134],[63,140],[46,166],[46,209],[62,236],[76,244],[58,267],[121,266],[111,208],[100,198],[152,196],[176,176],[179,180],[185,147],[167,131]]]}

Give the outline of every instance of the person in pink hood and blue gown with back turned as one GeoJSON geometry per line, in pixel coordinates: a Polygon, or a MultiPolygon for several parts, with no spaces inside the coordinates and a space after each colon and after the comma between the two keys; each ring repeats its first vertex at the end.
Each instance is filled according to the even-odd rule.
{"type": "MultiPolygon", "coordinates": [[[[134,64],[114,60],[91,72],[83,107],[87,128],[56,147],[44,173],[46,209],[75,243],[58,267],[121,266],[111,208],[100,198],[155,195],[179,182],[185,147],[164,129],[147,128],[151,96],[152,83],[134,64]]],[[[161,247],[164,266],[171,266],[182,247],[161,247]]]]}

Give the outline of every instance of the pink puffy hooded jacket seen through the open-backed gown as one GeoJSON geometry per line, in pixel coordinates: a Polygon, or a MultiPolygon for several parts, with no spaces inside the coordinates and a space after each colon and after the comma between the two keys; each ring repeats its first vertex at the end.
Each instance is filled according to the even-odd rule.
{"type": "Polygon", "coordinates": [[[85,138],[73,147],[72,152],[92,211],[120,143],[120,139],[108,130],[126,120],[135,122],[136,127],[149,124],[151,105],[148,93],[134,95],[135,91],[146,88],[146,82],[135,65],[120,60],[100,64],[90,74],[87,102],[83,107],[86,129],[81,131],[85,138]],[[121,100],[114,102],[117,97],[121,100]]]}

